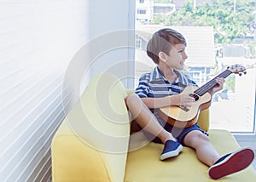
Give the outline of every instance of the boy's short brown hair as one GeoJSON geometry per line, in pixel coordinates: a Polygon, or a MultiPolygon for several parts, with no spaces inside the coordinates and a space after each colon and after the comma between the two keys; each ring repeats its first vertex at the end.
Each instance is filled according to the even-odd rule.
{"type": "Polygon", "coordinates": [[[154,60],[154,63],[159,64],[158,54],[162,51],[165,54],[169,54],[173,45],[183,43],[187,45],[183,35],[171,28],[164,28],[156,31],[149,39],[147,45],[147,54],[154,60]]]}

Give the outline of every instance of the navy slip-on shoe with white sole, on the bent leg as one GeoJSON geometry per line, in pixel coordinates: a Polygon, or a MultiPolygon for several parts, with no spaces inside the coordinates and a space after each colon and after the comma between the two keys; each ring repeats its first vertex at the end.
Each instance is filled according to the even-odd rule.
{"type": "Polygon", "coordinates": [[[180,145],[177,140],[167,140],[164,150],[160,155],[160,160],[165,160],[172,156],[177,156],[183,150],[183,145],[180,145]]]}

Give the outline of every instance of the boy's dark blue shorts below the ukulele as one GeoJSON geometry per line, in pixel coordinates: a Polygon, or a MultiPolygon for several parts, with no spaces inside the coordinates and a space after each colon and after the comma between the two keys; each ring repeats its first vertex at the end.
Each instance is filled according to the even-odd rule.
{"type": "MultiPolygon", "coordinates": [[[[174,138],[176,138],[177,141],[182,145],[184,145],[183,140],[184,140],[185,136],[193,130],[199,130],[199,131],[201,131],[201,133],[208,135],[208,133],[206,131],[202,130],[196,123],[195,123],[195,125],[193,125],[189,128],[175,128],[171,124],[166,123],[164,128],[166,129],[166,131],[170,132],[172,134],[172,136],[174,138]]],[[[148,139],[152,140],[153,142],[162,144],[162,141],[158,137],[155,138],[154,135],[149,134],[146,131],[143,131],[143,133],[145,134],[145,136],[148,139]]]]}

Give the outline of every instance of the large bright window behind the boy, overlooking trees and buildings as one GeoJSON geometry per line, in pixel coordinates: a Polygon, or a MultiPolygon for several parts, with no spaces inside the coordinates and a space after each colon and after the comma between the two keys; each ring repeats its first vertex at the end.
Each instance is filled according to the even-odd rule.
{"type": "MultiPolygon", "coordinates": [[[[174,8],[170,14],[153,14],[150,21],[137,22],[136,28],[140,31],[137,40],[140,37],[140,41],[136,43],[140,49],[136,50],[136,60],[140,64],[136,65],[136,76],[154,67],[153,61],[142,53],[150,34],[163,26],[173,27],[188,40],[187,72],[199,86],[230,65],[246,67],[246,74],[231,74],[225,79],[224,89],[212,97],[210,127],[239,134],[255,134],[256,14],[253,12],[256,3],[253,0],[236,4],[233,0],[226,1],[229,3],[203,2],[172,1],[174,8]],[[220,15],[220,12],[225,14],[220,15]],[[225,22],[227,19],[228,23],[225,22]]],[[[148,5],[153,13],[157,9],[156,3],[148,5]]]]}

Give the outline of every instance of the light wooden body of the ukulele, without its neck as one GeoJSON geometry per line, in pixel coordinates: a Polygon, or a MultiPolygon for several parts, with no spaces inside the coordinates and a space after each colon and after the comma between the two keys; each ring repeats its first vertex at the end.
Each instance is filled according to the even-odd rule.
{"type": "Polygon", "coordinates": [[[197,122],[200,111],[211,105],[212,95],[208,92],[202,96],[195,94],[198,87],[188,86],[184,88],[183,94],[189,94],[195,98],[192,106],[171,105],[159,109],[159,116],[169,124],[177,128],[189,128],[197,122]]]}

